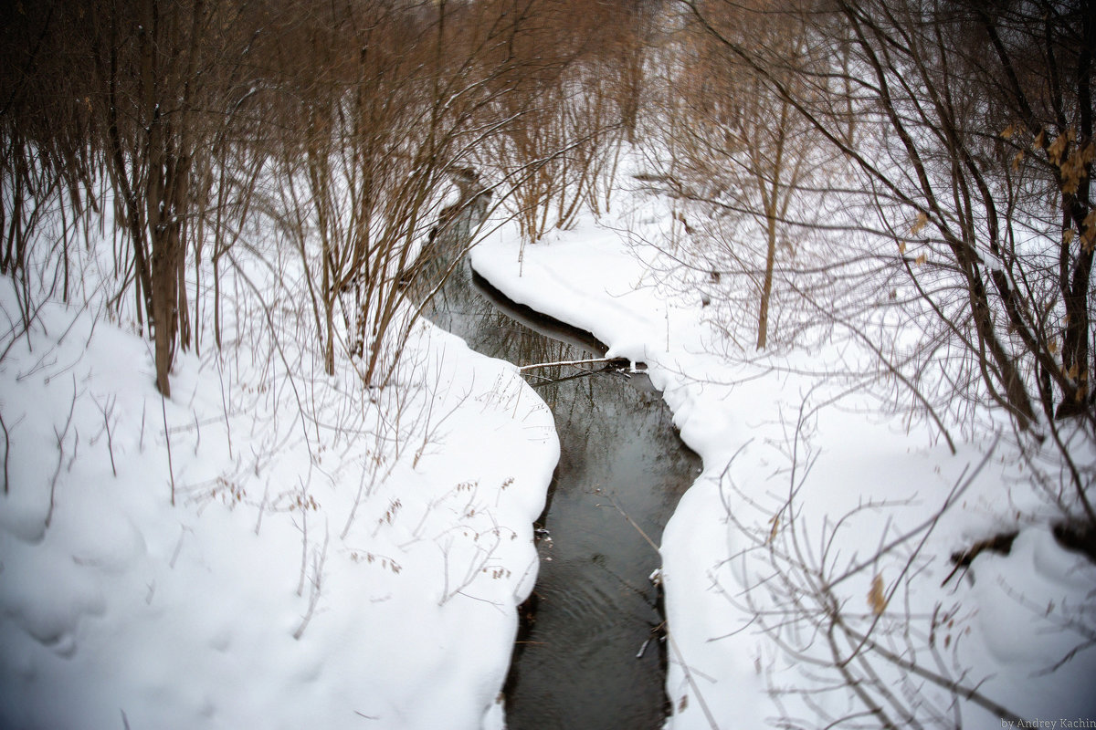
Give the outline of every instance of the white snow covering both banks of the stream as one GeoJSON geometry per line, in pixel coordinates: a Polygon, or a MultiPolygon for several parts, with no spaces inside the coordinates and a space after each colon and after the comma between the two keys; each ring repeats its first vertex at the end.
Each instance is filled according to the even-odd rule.
{"type": "MultiPolygon", "coordinates": [[[[952,455],[927,425],[803,374],[863,354],[735,350],[704,273],[684,289],[664,278],[680,234],[666,204],[614,206],[533,245],[499,225],[472,265],[644,363],[704,460],[661,536],[666,727],[854,711],[811,613],[819,576],[881,649],[1027,720],[1096,717],[1096,651],[1071,653],[1096,568],[1050,536],[1001,424],[952,455]],[[949,579],[951,553],[1007,530],[1007,557],[949,579]]],[[[559,457],[547,406],[514,366],[427,323],[384,391],[351,362],[326,375],[292,270],[237,265],[270,300],[226,305],[225,350],[182,354],[170,401],[134,323],[49,300],[16,335],[0,283],[0,727],[502,728],[559,457]]],[[[225,292],[247,289],[222,276],[225,292]]],[[[932,681],[870,659],[951,718],[932,681]]],[[[1004,727],[972,703],[961,714],[1004,727]]]]}

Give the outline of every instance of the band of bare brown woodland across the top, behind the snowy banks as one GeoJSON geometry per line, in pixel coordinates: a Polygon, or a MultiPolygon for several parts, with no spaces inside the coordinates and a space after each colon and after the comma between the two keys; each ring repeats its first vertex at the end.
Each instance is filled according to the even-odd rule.
{"type": "Polygon", "coordinates": [[[756,347],[858,332],[915,407],[947,399],[918,391],[944,373],[1021,430],[1093,421],[1086,0],[2,13],[0,264],[30,316],[30,279],[69,296],[76,231],[114,227],[109,297],[148,328],[164,393],[175,349],[199,345],[190,292],[218,286],[256,220],[296,231],[329,361],[338,293],[364,287],[355,346],[376,359],[456,167],[535,241],[606,204],[626,135],[654,150],[657,187],[706,211],[685,260],[728,285],[730,320],[753,311],[756,347]],[[35,235],[57,217],[61,234],[35,235]],[[903,321],[923,337],[900,351],[903,321]]]}

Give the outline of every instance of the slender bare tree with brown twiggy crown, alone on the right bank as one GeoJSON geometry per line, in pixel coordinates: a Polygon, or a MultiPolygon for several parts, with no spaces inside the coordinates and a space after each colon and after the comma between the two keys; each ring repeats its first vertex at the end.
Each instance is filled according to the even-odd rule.
{"type": "Polygon", "coordinates": [[[663,90],[670,123],[653,140],[663,152],[652,157],[665,192],[682,201],[675,217],[686,234],[708,228],[689,255],[705,260],[710,277],[719,279],[709,285],[722,285],[709,289],[740,297],[733,290],[741,290],[742,275],[747,279],[756,347],[764,349],[777,260],[796,256],[814,222],[814,200],[804,188],[825,161],[810,125],[772,80],[799,96],[825,89],[806,79],[804,69],[819,58],[803,19],[789,13],[774,23],[767,3],[726,3],[711,8],[704,21],[707,26],[687,24],[674,46],[663,90]],[[707,32],[717,25],[752,63],[707,32]],[[758,237],[761,252],[754,253],[758,237]]]}

